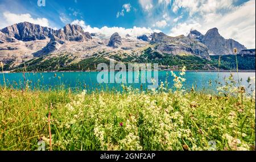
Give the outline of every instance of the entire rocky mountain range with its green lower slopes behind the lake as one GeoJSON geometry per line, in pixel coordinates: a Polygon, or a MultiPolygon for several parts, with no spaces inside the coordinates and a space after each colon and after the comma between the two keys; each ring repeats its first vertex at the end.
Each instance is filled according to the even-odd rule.
{"type": "Polygon", "coordinates": [[[217,28],[205,35],[191,30],[188,36],[155,32],[122,37],[115,32],[110,38],[90,34],[75,24],[53,30],[23,22],[0,30],[0,62],[11,71],[22,70],[24,65],[31,71],[92,70],[97,63],[109,63],[109,59],[159,63],[163,69],[183,65],[188,69],[217,69],[212,56],[233,55],[234,48],[255,61],[255,49],[248,50],[236,40],[223,38],[217,28]]]}

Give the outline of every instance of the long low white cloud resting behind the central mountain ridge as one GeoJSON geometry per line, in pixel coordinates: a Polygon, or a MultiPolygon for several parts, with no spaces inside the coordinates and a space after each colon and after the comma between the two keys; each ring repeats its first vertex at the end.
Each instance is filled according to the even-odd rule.
{"type": "Polygon", "coordinates": [[[98,35],[110,37],[114,32],[118,32],[121,36],[126,36],[129,34],[130,36],[137,37],[139,35],[143,34],[151,34],[152,32],[160,32],[160,30],[152,30],[151,28],[141,28],[141,27],[133,27],[133,28],[123,28],[123,27],[102,27],[102,28],[96,28],[96,27],[90,27],[89,25],[86,25],[83,20],[74,20],[72,24],[77,24],[81,26],[84,31],[90,32],[90,33],[97,33],[98,35]]]}

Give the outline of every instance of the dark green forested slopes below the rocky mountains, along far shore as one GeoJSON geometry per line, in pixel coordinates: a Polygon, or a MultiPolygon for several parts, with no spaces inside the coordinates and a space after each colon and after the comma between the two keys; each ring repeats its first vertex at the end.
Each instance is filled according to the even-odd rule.
{"type": "MultiPolygon", "coordinates": [[[[23,72],[26,65],[27,71],[76,71],[76,70],[96,70],[97,65],[100,63],[106,63],[109,65],[109,59],[121,63],[158,63],[165,68],[181,68],[187,67],[188,70],[236,70],[236,56],[225,55],[210,56],[210,59],[203,59],[195,55],[188,55],[180,53],[180,55],[171,55],[167,53],[159,53],[154,51],[151,47],[144,50],[142,55],[135,55],[132,53],[117,54],[108,56],[109,53],[95,53],[92,57],[81,60],[79,63],[72,63],[73,59],[70,59],[69,55],[63,55],[59,57],[52,57],[47,59],[47,56],[39,57],[27,61],[24,64],[20,64],[19,67],[11,68],[13,61],[5,64],[4,70],[14,70],[14,72],[23,72]],[[98,55],[100,54],[100,56],[98,55]],[[109,57],[109,59],[108,59],[109,57]]],[[[238,69],[240,70],[255,70],[255,55],[237,55],[238,69]]]]}

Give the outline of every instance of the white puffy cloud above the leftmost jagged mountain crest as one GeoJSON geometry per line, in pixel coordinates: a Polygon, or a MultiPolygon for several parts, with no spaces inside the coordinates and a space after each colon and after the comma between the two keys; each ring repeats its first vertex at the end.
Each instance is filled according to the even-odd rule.
{"type": "Polygon", "coordinates": [[[33,24],[39,24],[40,26],[50,27],[48,19],[32,18],[30,14],[13,14],[10,12],[5,12],[3,13],[3,18],[4,20],[3,22],[1,22],[3,26],[1,27],[11,26],[15,23],[20,23],[20,22],[30,22],[33,24]]]}

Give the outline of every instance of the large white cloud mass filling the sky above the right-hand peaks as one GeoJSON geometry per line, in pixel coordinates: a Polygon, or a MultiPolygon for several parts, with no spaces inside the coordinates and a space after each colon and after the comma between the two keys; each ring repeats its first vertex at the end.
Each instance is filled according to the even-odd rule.
{"type": "MultiPolygon", "coordinates": [[[[181,3],[181,1],[182,0],[176,2],[181,3]]],[[[182,2],[185,3],[184,1],[182,2]]],[[[202,6],[205,8],[197,6],[197,9],[200,11],[200,16],[194,16],[193,21],[188,19],[185,22],[177,24],[171,29],[169,35],[177,36],[180,34],[188,34],[191,28],[205,34],[210,28],[217,27],[224,38],[232,38],[239,41],[247,48],[255,48],[255,0],[250,0],[236,7],[232,5],[231,0],[208,0],[204,2],[202,6]],[[221,13],[217,11],[220,9],[218,7],[222,7],[222,9],[228,11],[221,13]]],[[[193,10],[191,10],[191,12],[193,12],[193,10]]]]}

